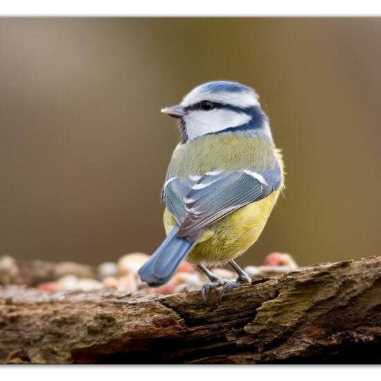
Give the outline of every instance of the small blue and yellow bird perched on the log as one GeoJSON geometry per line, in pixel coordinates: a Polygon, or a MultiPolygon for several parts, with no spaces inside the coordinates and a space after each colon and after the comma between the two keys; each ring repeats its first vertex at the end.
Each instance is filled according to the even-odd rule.
{"type": "Polygon", "coordinates": [[[195,87],[179,105],[181,142],[168,166],[161,199],[167,238],[139,269],[150,286],[167,283],[182,260],[197,265],[223,294],[251,278],[234,259],[256,242],[283,189],[283,160],[256,92],[237,82],[195,87]],[[208,267],[229,263],[234,281],[208,267]]]}

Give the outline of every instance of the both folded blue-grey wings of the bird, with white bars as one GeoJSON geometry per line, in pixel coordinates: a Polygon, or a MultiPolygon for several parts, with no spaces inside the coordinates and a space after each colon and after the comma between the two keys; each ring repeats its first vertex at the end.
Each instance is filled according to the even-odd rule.
{"type": "Polygon", "coordinates": [[[277,162],[274,168],[262,171],[213,170],[196,181],[171,179],[163,198],[179,224],[177,236],[195,240],[213,222],[277,190],[281,181],[277,162]]]}

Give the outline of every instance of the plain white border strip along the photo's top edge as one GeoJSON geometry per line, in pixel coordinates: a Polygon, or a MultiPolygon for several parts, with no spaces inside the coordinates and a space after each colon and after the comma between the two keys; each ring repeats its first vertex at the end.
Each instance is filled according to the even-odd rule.
{"type": "Polygon", "coordinates": [[[1,16],[376,16],[381,2],[301,0],[2,0],[1,16]]]}

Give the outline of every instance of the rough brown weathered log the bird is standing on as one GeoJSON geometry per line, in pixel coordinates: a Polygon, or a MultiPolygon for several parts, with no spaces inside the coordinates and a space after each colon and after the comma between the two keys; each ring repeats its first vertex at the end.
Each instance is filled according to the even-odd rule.
{"type": "Polygon", "coordinates": [[[381,257],[200,292],[46,294],[0,288],[0,361],[381,362],[381,257]]]}

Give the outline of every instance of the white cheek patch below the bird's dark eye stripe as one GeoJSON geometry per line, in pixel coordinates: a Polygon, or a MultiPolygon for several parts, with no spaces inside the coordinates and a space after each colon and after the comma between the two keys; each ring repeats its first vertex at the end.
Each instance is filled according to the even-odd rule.
{"type": "Polygon", "coordinates": [[[245,112],[235,112],[227,109],[211,111],[193,110],[184,117],[186,134],[189,140],[205,134],[213,134],[230,127],[244,125],[251,120],[245,112]]]}

